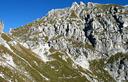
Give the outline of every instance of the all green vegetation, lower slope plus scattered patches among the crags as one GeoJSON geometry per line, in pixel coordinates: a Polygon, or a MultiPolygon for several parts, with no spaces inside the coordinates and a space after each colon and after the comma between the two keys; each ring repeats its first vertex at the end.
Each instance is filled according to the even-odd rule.
{"type": "MultiPolygon", "coordinates": [[[[112,6],[122,8],[122,6],[113,4],[96,5],[97,8],[101,8],[103,10],[109,9],[112,6]]],[[[74,10],[71,11],[70,18],[78,18],[77,13],[74,10]]],[[[23,40],[26,40],[26,38],[28,38],[29,36],[27,35],[27,33],[29,32],[29,28],[31,28],[32,26],[37,26],[43,22],[43,19],[39,19],[25,26],[19,27],[14,30],[12,35],[15,38],[22,37],[23,40]]],[[[50,19],[48,22],[50,24],[53,24],[56,21],[54,19],[50,19]]],[[[103,31],[103,33],[104,32],[105,31],[103,31]]],[[[96,34],[98,35],[98,33],[96,34]]],[[[37,35],[39,35],[39,33],[33,33],[33,36],[35,37],[31,38],[30,40],[37,42],[37,35]]],[[[11,41],[11,38],[7,34],[3,33],[1,37],[7,42],[11,41]]],[[[49,39],[49,36],[44,37],[45,42],[48,42],[49,40],[58,40],[61,38],[64,38],[63,35],[57,35],[52,39],[49,39]]],[[[74,40],[74,38],[66,38],[65,40],[67,40],[67,42],[69,42],[75,48],[85,48],[95,51],[95,48],[89,43],[74,40]]],[[[32,52],[30,49],[23,47],[20,44],[17,44],[15,46],[9,46],[13,50],[13,52],[6,47],[0,45],[0,55],[2,56],[2,54],[9,54],[10,56],[12,56],[14,63],[17,66],[17,69],[14,67],[12,67],[13,69],[10,69],[6,66],[0,66],[0,72],[14,82],[16,80],[18,82],[89,82],[88,79],[81,74],[81,72],[87,74],[89,77],[97,79],[98,82],[116,82],[105,70],[106,64],[112,64],[115,61],[123,58],[128,59],[127,54],[117,53],[115,55],[112,55],[108,60],[97,59],[90,61],[90,71],[85,71],[79,66],[77,66],[78,69],[74,68],[73,61],[70,59],[70,57],[64,51],[59,52],[59,50],[56,50],[53,47],[49,49],[51,54],[48,55],[48,57],[53,58],[53,60],[44,62],[39,56],[37,56],[37,54],[32,52]],[[105,61],[107,61],[107,63],[104,63],[105,61]],[[32,79],[24,74],[24,72],[27,72],[28,76],[30,76],[30,78],[32,79]],[[47,81],[45,77],[49,78],[50,80],[47,81]]],[[[0,82],[6,82],[5,79],[6,78],[0,77],[0,82]]]]}

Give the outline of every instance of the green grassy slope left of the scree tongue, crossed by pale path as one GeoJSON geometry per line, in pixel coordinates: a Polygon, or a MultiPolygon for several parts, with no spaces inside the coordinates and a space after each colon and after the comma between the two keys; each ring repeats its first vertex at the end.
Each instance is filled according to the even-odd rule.
{"type": "Polygon", "coordinates": [[[0,67],[0,71],[11,78],[12,81],[49,82],[42,77],[43,75],[50,78],[50,82],[89,82],[85,76],[81,76],[78,72],[79,69],[74,69],[72,67],[73,62],[69,57],[66,61],[61,58],[65,53],[54,52],[50,57],[55,60],[44,63],[35,53],[20,44],[16,46],[10,45],[10,47],[15,54],[2,45],[0,46],[0,49],[3,50],[1,53],[10,54],[17,68],[24,72],[26,71],[33,78],[29,79],[23,72],[15,68],[15,71],[13,71],[7,67],[0,67]]]}

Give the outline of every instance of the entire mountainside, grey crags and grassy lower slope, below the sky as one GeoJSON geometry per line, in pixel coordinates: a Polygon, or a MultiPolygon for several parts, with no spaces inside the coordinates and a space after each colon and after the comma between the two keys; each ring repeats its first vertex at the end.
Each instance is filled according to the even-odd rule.
{"type": "Polygon", "coordinates": [[[128,7],[75,2],[51,10],[1,35],[0,81],[127,82],[127,36],[128,7]]]}

